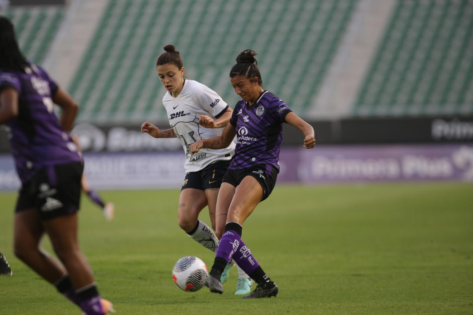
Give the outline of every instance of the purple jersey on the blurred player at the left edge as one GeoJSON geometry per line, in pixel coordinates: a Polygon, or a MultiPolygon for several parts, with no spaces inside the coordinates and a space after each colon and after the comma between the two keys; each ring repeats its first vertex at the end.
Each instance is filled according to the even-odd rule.
{"type": "Polygon", "coordinates": [[[18,116],[7,123],[10,147],[23,184],[44,166],[81,162],[77,147],[62,129],[51,99],[58,86],[40,67],[0,70],[0,90],[18,91],[18,116]]]}

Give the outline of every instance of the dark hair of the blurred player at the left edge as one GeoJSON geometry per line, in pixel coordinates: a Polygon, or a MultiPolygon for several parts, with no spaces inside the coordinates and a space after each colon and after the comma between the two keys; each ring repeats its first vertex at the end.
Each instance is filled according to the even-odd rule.
{"type": "Polygon", "coordinates": [[[13,24],[0,16],[0,69],[23,70],[26,66],[28,62],[18,47],[13,24]]]}

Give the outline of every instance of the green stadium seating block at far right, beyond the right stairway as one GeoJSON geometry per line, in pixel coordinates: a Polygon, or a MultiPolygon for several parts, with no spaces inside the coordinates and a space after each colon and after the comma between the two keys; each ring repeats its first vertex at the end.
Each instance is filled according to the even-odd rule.
{"type": "Polygon", "coordinates": [[[354,114],[471,114],[472,56],[472,1],[398,0],[354,114]]]}

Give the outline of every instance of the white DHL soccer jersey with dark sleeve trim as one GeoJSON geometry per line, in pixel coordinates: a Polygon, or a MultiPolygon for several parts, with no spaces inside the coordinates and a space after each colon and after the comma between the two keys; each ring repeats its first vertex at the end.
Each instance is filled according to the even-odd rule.
{"type": "Polygon", "coordinates": [[[227,103],[215,91],[197,81],[185,80],[184,87],[177,97],[166,92],[163,105],[166,108],[169,125],[174,129],[184,148],[186,173],[200,171],[217,161],[230,160],[235,151],[234,142],[225,149],[202,148],[194,154],[189,151],[189,146],[195,141],[222,134],[223,128],[204,128],[197,123],[200,115],[207,115],[215,120],[227,110],[227,103]]]}

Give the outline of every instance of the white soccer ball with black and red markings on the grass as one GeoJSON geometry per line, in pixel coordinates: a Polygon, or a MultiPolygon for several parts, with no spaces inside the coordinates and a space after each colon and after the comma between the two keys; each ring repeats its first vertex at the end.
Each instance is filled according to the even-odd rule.
{"type": "Polygon", "coordinates": [[[207,283],[208,278],[207,266],[197,257],[183,257],[174,265],[174,282],[186,292],[195,292],[201,289],[207,283]]]}

